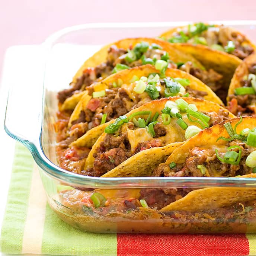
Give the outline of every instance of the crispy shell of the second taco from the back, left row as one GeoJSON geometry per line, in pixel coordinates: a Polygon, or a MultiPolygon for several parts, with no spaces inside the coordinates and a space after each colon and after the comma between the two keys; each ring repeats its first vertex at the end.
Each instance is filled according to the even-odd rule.
{"type": "MultiPolygon", "coordinates": [[[[131,80],[134,76],[137,76],[138,78],[145,76],[147,77],[151,73],[158,73],[153,66],[151,65],[144,65],[140,67],[134,67],[129,70],[123,70],[119,71],[116,74],[112,74],[111,76],[107,77],[106,79],[100,81],[99,83],[93,84],[90,87],[93,88],[95,92],[108,89],[109,87],[112,86],[114,82],[118,82],[119,79],[122,80],[122,88],[128,88],[131,84],[131,80]]],[[[223,105],[221,102],[220,98],[215,95],[212,90],[206,86],[204,83],[202,83],[200,80],[196,79],[195,77],[191,76],[190,74],[177,70],[177,69],[172,69],[172,68],[167,68],[166,70],[166,77],[173,77],[173,78],[182,78],[182,79],[188,79],[190,81],[189,87],[191,89],[195,89],[201,92],[207,93],[207,95],[204,96],[205,100],[209,100],[211,102],[218,103],[220,105],[223,105]]],[[[68,122],[68,127],[72,126],[72,123],[79,118],[80,112],[86,110],[86,106],[89,102],[89,100],[92,98],[92,96],[88,95],[87,93],[84,94],[80,102],[77,104],[76,108],[74,109],[70,120],[68,122]]],[[[111,122],[111,121],[110,121],[111,122]]],[[[78,147],[92,147],[92,145],[95,143],[97,138],[99,137],[100,134],[104,131],[105,127],[109,123],[105,123],[102,125],[99,125],[97,127],[94,127],[87,131],[86,134],[84,134],[82,137],[78,138],[76,141],[72,143],[72,145],[76,145],[78,147]]]]}

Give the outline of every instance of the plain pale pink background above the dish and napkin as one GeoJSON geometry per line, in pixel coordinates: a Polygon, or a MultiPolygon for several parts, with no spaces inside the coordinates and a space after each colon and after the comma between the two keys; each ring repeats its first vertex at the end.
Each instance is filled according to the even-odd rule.
{"type": "Polygon", "coordinates": [[[256,19],[255,0],[0,0],[0,70],[6,48],[40,44],[66,26],[92,22],[256,19]]]}

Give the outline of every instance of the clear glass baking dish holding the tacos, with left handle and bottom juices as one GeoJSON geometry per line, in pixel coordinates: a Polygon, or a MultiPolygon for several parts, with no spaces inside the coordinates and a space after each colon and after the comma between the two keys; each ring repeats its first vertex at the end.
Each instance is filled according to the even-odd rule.
{"type": "MultiPolygon", "coordinates": [[[[98,233],[256,232],[256,201],[238,201],[236,205],[217,209],[208,207],[200,212],[179,209],[165,214],[150,208],[127,210],[120,207],[124,201],[138,200],[140,190],[145,188],[250,189],[256,188],[255,178],[98,178],[77,175],[57,166],[54,132],[56,95],[59,90],[67,88],[84,60],[102,45],[118,39],[154,37],[168,28],[187,23],[98,23],[65,28],[49,36],[41,45],[45,56],[44,81],[35,81],[33,88],[26,84],[13,84],[10,88],[4,128],[7,134],[31,151],[39,166],[49,205],[73,227],[98,233]],[[92,195],[95,189],[114,206],[92,209],[83,204],[83,198],[92,195]]],[[[256,41],[256,20],[210,23],[233,26],[256,41]]]]}

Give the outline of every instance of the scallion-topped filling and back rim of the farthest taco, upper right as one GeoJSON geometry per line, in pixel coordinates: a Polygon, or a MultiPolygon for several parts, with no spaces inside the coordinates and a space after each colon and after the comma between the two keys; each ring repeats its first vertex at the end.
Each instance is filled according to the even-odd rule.
{"type": "Polygon", "coordinates": [[[241,60],[256,49],[243,33],[224,25],[209,25],[202,22],[172,28],[160,37],[171,43],[205,45],[235,55],[241,60]]]}

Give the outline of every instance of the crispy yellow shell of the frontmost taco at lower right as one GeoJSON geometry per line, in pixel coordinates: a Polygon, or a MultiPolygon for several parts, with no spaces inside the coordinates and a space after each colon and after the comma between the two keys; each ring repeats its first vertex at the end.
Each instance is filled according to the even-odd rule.
{"type": "MultiPolygon", "coordinates": [[[[232,127],[240,121],[240,118],[233,118],[220,124],[214,125],[211,128],[206,128],[199,134],[187,140],[183,145],[173,151],[173,153],[167,158],[165,164],[172,162],[176,164],[185,163],[189,157],[189,152],[195,148],[212,149],[217,148],[221,150],[223,147],[227,147],[225,140],[217,140],[217,138],[223,136],[228,138],[229,135],[224,128],[224,123],[231,122],[232,127]]],[[[255,117],[244,117],[241,124],[237,126],[237,134],[240,134],[244,128],[253,129],[256,125],[255,117]]],[[[216,172],[217,173],[217,172],[216,172]]],[[[217,175],[218,176],[218,175],[217,175]]],[[[255,173],[239,176],[239,178],[256,177],[255,173]]],[[[188,193],[182,199],[179,199],[170,205],[162,208],[161,211],[200,211],[203,209],[213,209],[218,207],[230,206],[236,202],[246,202],[256,199],[256,189],[253,188],[221,188],[211,187],[196,189],[188,193]],[[193,202],[193,203],[191,203],[193,202]]]]}

